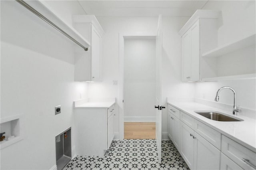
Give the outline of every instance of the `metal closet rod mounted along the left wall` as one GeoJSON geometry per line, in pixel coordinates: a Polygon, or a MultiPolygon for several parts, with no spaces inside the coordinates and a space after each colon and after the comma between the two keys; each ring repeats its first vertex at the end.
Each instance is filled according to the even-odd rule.
{"type": "Polygon", "coordinates": [[[76,43],[77,45],[79,45],[80,47],[82,47],[85,51],[88,51],[87,47],[84,47],[84,45],[82,45],[81,43],[79,43],[78,41],[76,41],[73,37],[71,37],[70,35],[68,35],[66,32],[64,32],[61,28],[59,28],[58,26],[56,26],[53,22],[51,22],[50,20],[48,20],[45,16],[43,16],[42,14],[40,14],[40,12],[38,12],[37,10],[35,10],[34,8],[32,8],[30,5],[28,5],[26,2],[24,2],[23,0],[16,0],[18,3],[20,3],[22,6],[24,6],[25,8],[27,8],[28,10],[30,10],[31,12],[33,12],[34,14],[36,14],[36,16],[38,16],[39,18],[41,18],[42,20],[44,20],[45,22],[47,22],[50,26],[52,26],[53,28],[55,28],[56,30],[58,30],[60,33],[62,33],[64,36],[66,36],[67,38],[69,38],[70,40],[72,40],[74,43],[76,43]]]}

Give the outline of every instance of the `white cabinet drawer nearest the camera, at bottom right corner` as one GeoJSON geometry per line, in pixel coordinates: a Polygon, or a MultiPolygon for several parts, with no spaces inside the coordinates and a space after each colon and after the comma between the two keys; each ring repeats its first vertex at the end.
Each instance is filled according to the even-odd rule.
{"type": "Polygon", "coordinates": [[[222,135],[221,152],[245,170],[256,169],[256,153],[222,135]]]}

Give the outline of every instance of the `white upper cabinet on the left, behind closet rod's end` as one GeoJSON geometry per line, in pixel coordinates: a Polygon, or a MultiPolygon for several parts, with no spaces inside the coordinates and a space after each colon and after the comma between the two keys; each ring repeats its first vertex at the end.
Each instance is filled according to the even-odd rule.
{"type": "Polygon", "coordinates": [[[104,31],[93,15],[73,16],[74,28],[90,40],[88,51],[76,49],[75,81],[101,80],[101,39],[104,31]]]}

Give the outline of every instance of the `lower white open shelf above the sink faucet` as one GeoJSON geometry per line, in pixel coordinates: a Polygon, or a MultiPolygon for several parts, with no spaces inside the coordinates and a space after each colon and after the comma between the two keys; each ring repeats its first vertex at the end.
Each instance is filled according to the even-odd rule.
{"type": "Polygon", "coordinates": [[[256,79],[256,74],[242,74],[242,75],[230,75],[222,77],[210,77],[202,78],[202,81],[218,81],[218,80],[242,80],[242,79],[256,79]]]}

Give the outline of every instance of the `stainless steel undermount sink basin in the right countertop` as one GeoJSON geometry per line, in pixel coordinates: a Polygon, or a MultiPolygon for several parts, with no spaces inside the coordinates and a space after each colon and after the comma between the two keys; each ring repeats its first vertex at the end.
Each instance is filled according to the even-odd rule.
{"type": "Polygon", "coordinates": [[[219,113],[216,111],[195,111],[195,113],[214,121],[223,121],[223,122],[243,121],[242,119],[224,115],[223,113],[219,113]]]}

